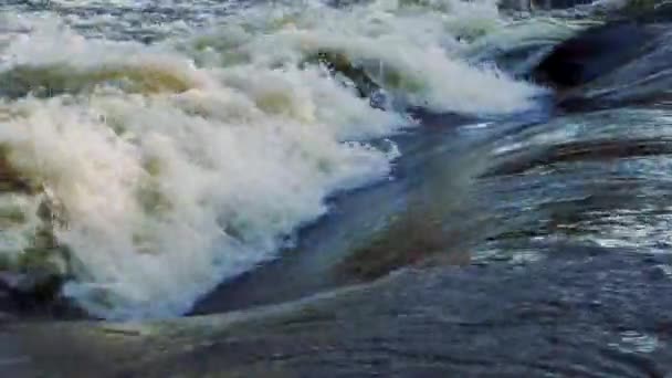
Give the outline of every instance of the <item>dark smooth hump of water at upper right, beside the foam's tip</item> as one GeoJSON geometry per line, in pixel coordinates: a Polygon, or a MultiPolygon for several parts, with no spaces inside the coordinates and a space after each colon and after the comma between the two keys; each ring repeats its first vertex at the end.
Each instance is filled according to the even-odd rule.
{"type": "Polygon", "coordinates": [[[590,28],[560,43],[533,70],[535,81],[558,90],[570,112],[668,104],[672,7],[590,28]]]}

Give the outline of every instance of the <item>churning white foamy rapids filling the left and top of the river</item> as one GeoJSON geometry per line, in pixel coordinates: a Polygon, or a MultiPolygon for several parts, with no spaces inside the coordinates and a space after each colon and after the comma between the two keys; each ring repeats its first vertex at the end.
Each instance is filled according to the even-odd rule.
{"type": "Polygon", "coordinates": [[[393,180],[410,109],[534,108],[483,53],[561,35],[493,1],[150,3],[0,6],[0,263],[49,261],[102,318],[183,314],[393,180]]]}

